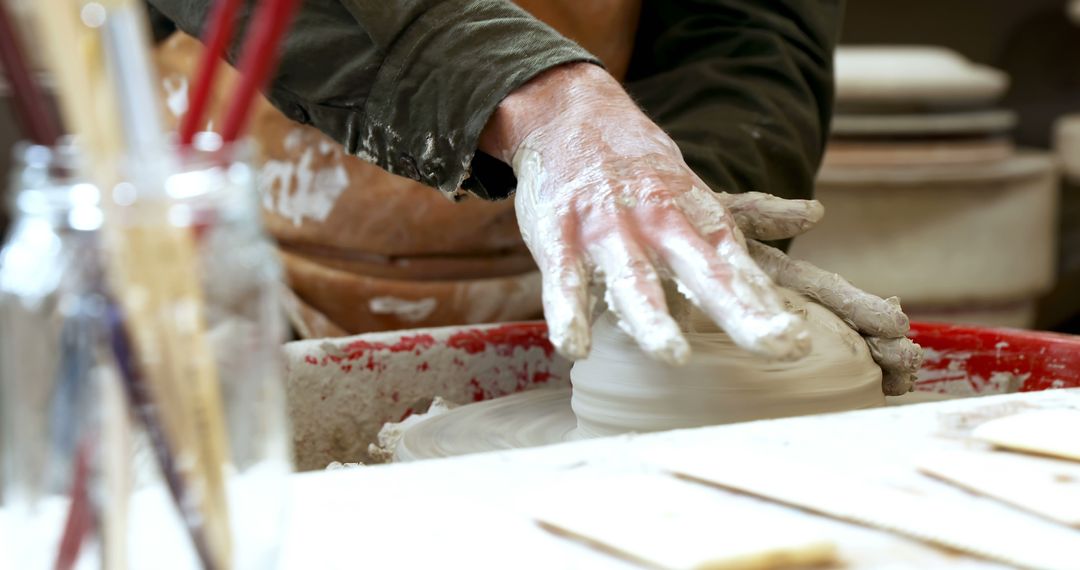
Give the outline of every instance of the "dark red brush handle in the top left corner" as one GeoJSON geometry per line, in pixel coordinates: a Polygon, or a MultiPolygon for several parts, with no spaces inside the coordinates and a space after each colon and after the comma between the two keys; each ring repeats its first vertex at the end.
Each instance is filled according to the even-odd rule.
{"type": "Polygon", "coordinates": [[[60,131],[45,104],[45,97],[26,65],[8,9],[0,2],[0,60],[11,84],[16,120],[23,132],[38,145],[53,145],[60,131]]]}

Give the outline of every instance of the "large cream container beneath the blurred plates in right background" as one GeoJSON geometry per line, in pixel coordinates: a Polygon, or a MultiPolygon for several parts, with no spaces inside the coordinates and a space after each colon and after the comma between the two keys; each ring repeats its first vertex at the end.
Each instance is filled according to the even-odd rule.
{"type": "Polygon", "coordinates": [[[1044,153],[978,167],[824,169],[825,218],[793,256],[912,306],[1015,301],[1056,269],[1057,171],[1044,153]]]}

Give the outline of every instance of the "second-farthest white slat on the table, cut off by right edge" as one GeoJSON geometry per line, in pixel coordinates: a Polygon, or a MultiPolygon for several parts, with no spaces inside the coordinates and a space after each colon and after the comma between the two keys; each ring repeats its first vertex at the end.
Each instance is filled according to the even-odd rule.
{"type": "Polygon", "coordinates": [[[919,471],[1080,529],[1080,464],[1016,453],[953,451],[923,459],[919,471]]]}

